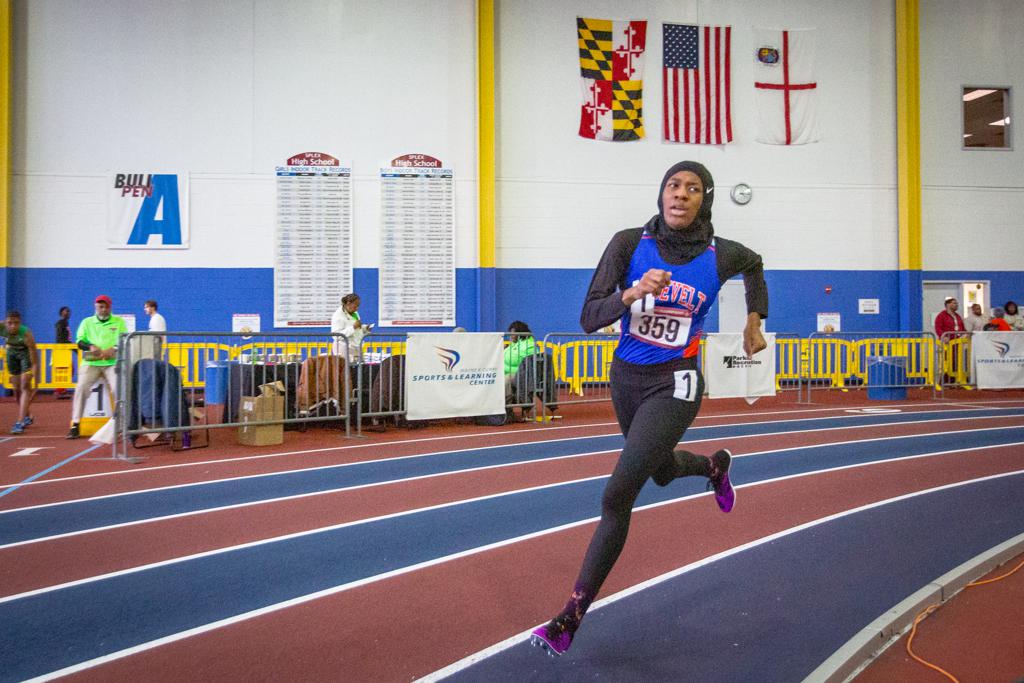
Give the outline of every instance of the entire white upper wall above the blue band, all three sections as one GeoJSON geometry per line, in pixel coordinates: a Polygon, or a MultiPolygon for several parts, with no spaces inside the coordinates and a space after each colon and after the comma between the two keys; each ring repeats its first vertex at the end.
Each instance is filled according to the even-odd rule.
{"type": "MultiPolygon", "coordinates": [[[[476,264],[473,0],[14,7],[11,265],[270,267],[272,169],[307,151],[353,163],[358,267],[378,261],[378,164],[422,152],[454,166],[457,264],[476,264]],[[193,248],[106,250],[106,173],[151,169],[191,174],[193,248]]],[[[716,177],[719,233],[768,268],[896,268],[893,31],[892,0],[498,2],[498,265],[593,267],[690,158],[716,177]],[[577,15],[648,20],[644,140],[577,135],[577,15]],[[662,22],[732,25],[734,143],[660,142],[662,22]],[[818,30],[820,142],[753,141],[758,26],[818,30]],[[740,181],[745,207],[726,197],[740,181]]],[[[1012,153],[959,144],[962,85],[1009,85],[1019,109],[1021,35],[1019,0],[921,3],[926,270],[1024,262],[1016,127],[1012,153]]]]}

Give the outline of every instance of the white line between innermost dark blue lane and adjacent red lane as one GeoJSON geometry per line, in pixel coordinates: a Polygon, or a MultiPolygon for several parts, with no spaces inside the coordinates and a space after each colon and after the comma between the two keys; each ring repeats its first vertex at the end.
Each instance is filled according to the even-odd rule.
{"type": "MultiPolygon", "coordinates": [[[[700,567],[707,566],[707,565],[712,564],[714,562],[718,562],[719,560],[726,559],[728,557],[731,557],[732,555],[736,555],[736,554],[741,553],[743,551],[751,550],[752,548],[757,548],[758,546],[763,546],[766,543],[772,543],[773,541],[778,541],[779,539],[785,538],[785,537],[791,536],[793,533],[798,533],[798,532],[806,530],[808,528],[813,528],[813,527],[819,526],[821,524],[826,524],[828,522],[836,521],[837,519],[842,519],[843,517],[847,517],[849,515],[858,514],[860,512],[865,512],[867,510],[871,510],[873,508],[878,508],[878,507],[881,507],[881,506],[884,506],[884,505],[891,505],[893,503],[898,503],[900,501],[905,501],[905,500],[908,500],[908,499],[911,499],[911,498],[915,498],[918,496],[927,496],[929,494],[934,494],[934,493],[945,490],[945,489],[948,489],[948,488],[953,488],[953,487],[956,487],[956,486],[964,486],[964,485],[967,485],[967,484],[979,483],[979,482],[982,482],[982,481],[988,481],[990,479],[997,479],[997,478],[1000,478],[1000,477],[1017,476],[1019,474],[1024,474],[1024,470],[1017,470],[1016,472],[1006,472],[1006,473],[1002,473],[1002,474],[992,474],[992,475],[985,476],[985,477],[979,477],[977,479],[970,479],[968,481],[958,481],[958,482],[955,482],[955,483],[947,483],[947,484],[943,484],[941,486],[935,486],[934,488],[927,488],[925,490],[919,490],[919,492],[914,492],[914,493],[911,493],[911,494],[904,494],[902,496],[896,496],[895,498],[890,498],[890,499],[887,499],[885,501],[878,501],[876,503],[868,503],[867,505],[862,505],[859,508],[853,508],[851,510],[844,510],[843,512],[837,512],[836,514],[828,515],[826,517],[821,517],[819,519],[815,519],[815,520],[812,520],[812,521],[809,521],[809,522],[804,522],[803,524],[798,524],[797,526],[793,526],[793,527],[790,527],[787,529],[782,529],[781,531],[776,531],[775,533],[772,533],[771,536],[766,536],[766,537],[764,537],[762,539],[758,539],[756,541],[751,541],[750,543],[745,543],[745,544],[743,544],[741,546],[736,546],[735,548],[730,548],[729,550],[722,551],[721,553],[717,553],[717,554],[712,555],[710,557],[706,557],[703,559],[699,559],[699,560],[697,560],[695,562],[691,562],[689,564],[681,566],[678,569],[673,569],[672,571],[667,571],[667,572],[660,574],[659,577],[654,577],[653,579],[648,579],[645,582],[642,582],[642,583],[637,584],[635,586],[631,586],[630,588],[622,590],[618,593],[613,593],[613,594],[609,595],[608,597],[602,598],[600,600],[597,600],[593,604],[591,604],[590,611],[593,611],[595,609],[600,609],[600,608],[605,607],[607,605],[610,605],[610,604],[612,604],[614,602],[618,602],[620,600],[625,600],[626,598],[629,598],[629,597],[631,597],[633,595],[636,595],[637,593],[640,593],[641,591],[644,591],[644,590],[646,590],[648,588],[651,588],[653,586],[657,586],[658,584],[662,584],[662,583],[665,583],[665,582],[670,581],[672,579],[675,579],[676,577],[681,577],[684,573],[689,573],[690,571],[693,571],[694,569],[699,569],[700,567]]],[[[455,675],[455,674],[457,674],[457,673],[459,673],[461,671],[464,671],[464,670],[472,667],[473,665],[478,664],[478,663],[482,661],[483,659],[486,659],[487,657],[494,656],[495,654],[499,654],[500,652],[502,652],[504,650],[507,650],[510,647],[514,647],[514,646],[516,646],[516,645],[518,645],[520,643],[523,643],[523,642],[525,642],[525,640],[527,638],[529,638],[529,635],[530,635],[530,633],[532,633],[534,629],[538,628],[539,626],[544,626],[544,625],[543,624],[538,624],[537,626],[530,627],[529,629],[527,629],[526,631],[523,631],[522,633],[517,633],[516,635],[512,636],[511,638],[506,638],[505,640],[503,640],[503,641],[501,641],[499,643],[495,643],[490,647],[486,647],[486,648],[484,648],[484,649],[482,649],[482,650],[480,650],[478,652],[474,652],[473,654],[470,654],[467,657],[463,657],[462,659],[459,659],[458,661],[455,661],[455,663],[449,665],[447,667],[444,667],[443,669],[438,669],[437,671],[435,671],[435,672],[433,672],[431,674],[428,674],[427,676],[424,676],[422,678],[417,679],[416,683],[434,683],[435,681],[440,681],[440,680],[442,680],[444,678],[447,678],[449,676],[453,676],[453,675],[455,675]]]]}

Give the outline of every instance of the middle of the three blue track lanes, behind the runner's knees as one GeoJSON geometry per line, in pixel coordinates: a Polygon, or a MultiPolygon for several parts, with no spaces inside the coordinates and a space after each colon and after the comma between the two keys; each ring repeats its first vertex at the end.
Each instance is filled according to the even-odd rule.
{"type": "MultiPolygon", "coordinates": [[[[738,458],[733,467],[736,481],[751,483],[1022,440],[1024,427],[914,436],[738,458]]],[[[702,483],[689,478],[665,488],[648,484],[638,504],[696,494],[702,483]]],[[[0,678],[39,675],[290,598],[587,519],[597,514],[603,485],[598,478],[402,514],[3,602],[0,678]]]]}

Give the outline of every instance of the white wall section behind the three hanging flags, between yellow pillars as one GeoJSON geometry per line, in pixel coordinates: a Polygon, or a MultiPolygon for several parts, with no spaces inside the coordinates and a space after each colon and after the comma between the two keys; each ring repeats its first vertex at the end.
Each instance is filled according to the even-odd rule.
{"type": "Polygon", "coordinates": [[[498,3],[499,266],[593,267],[613,232],[655,213],[665,170],[694,159],[716,179],[716,231],[766,267],[895,268],[894,23],[891,0],[498,3]],[[577,135],[578,15],[647,19],[645,139],[577,135]],[[733,143],[660,141],[663,22],[733,27],[733,143]],[[820,142],[754,141],[755,27],[817,29],[820,142]],[[728,199],[737,182],[754,188],[745,207],[728,199]]]}

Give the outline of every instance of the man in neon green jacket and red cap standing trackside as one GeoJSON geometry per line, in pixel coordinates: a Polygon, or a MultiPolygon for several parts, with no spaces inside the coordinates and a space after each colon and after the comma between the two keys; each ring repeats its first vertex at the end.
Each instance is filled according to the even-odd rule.
{"type": "Polygon", "coordinates": [[[78,326],[75,341],[84,353],[85,362],[78,369],[78,384],[75,385],[75,401],[71,414],[71,431],[68,438],[78,438],[78,423],[85,411],[92,385],[102,378],[111,391],[111,405],[117,398],[118,338],[128,334],[124,318],[111,314],[111,297],[101,294],[96,297],[96,314],[82,321],[78,326]]]}

